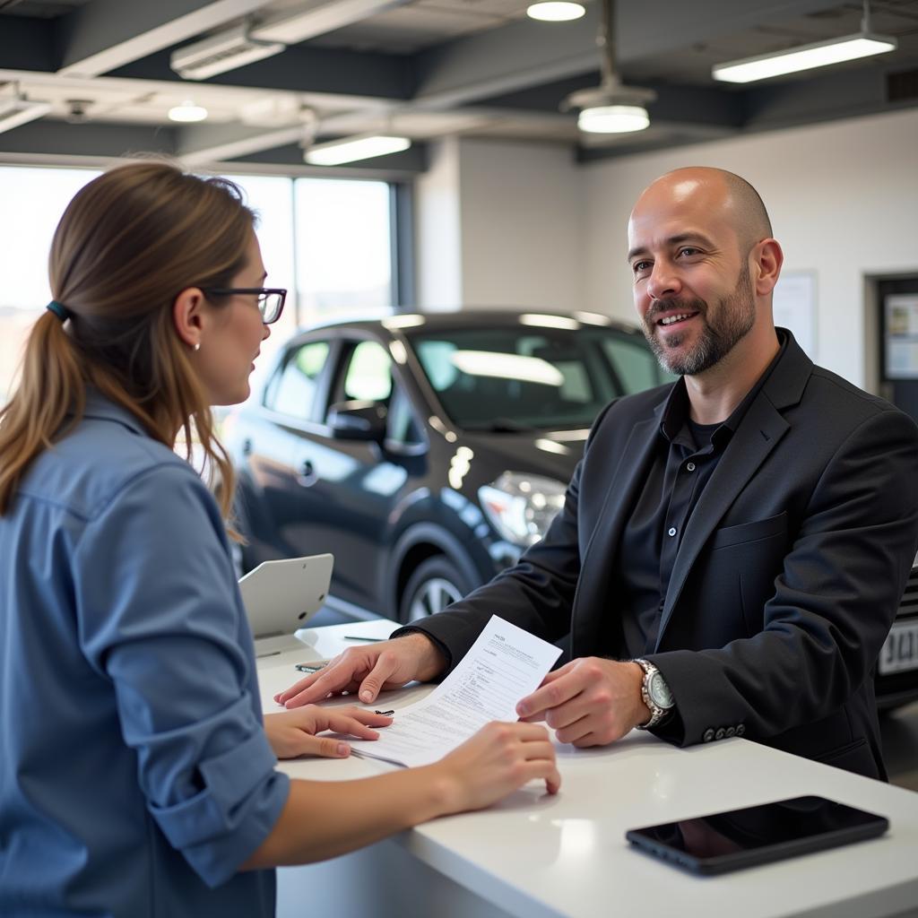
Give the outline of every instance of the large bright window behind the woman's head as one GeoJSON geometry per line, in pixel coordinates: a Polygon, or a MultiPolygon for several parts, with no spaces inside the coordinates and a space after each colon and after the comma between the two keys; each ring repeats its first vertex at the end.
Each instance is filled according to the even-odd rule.
{"type": "MultiPolygon", "coordinates": [[[[48,252],[64,208],[96,170],[0,166],[0,405],[14,385],[22,345],[50,299],[48,252]]],[[[258,376],[299,326],[391,312],[392,241],[385,182],[227,175],[258,214],[268,285],[289,291],[263,341],[258,376]]]]}

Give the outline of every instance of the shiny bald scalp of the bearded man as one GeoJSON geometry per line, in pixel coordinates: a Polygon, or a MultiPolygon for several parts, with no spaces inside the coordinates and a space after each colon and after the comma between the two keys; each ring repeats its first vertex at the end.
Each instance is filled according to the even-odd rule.
{"type": "Polygon", "coordinates": [[[660,176],[644,189],[632,217],[643,204],[655,204],[661,198],[717,212],[733,228],[744,255],[756,242],[771,238],[771,220],[762,198],[744,178],[725,169],[690,166],[660,176]]]}

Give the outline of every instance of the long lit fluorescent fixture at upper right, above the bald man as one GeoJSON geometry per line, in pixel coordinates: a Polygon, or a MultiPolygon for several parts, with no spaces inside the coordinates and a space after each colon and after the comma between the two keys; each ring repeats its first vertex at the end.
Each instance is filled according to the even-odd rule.
{"type": "Polygon", "coordinates": [[[715,64],[711,68],[711,76],[724,83],[753,83],[756,80],[767,80],[772,76],[783,76],[785,73],[798,73],[801,70],[812,70],[814,67],[827,67],[833,63],[885,54],[887,51],[896,50],[897,47],[898,42],[890,36],[860,32],[856,35],[845,35],[841,39],[800,45],[797,48],[778,51],[777,54],[759,54],[741,61],[715,64]]]}

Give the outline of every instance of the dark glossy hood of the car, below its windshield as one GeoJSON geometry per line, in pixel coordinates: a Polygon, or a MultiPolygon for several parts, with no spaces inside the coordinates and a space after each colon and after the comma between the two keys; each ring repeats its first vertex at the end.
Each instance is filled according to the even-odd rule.
{"type": "Polygon", "coordinates": [[[529,472],[565,484],[583,455],[589,430],[481,433],[466,431],[460,442],[481,459],[510,472],[529,472]]]}

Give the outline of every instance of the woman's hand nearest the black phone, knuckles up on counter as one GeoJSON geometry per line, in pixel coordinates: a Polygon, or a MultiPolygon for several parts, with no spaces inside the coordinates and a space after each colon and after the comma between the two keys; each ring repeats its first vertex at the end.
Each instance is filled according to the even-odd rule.
{"type": "Polygon", "coordinates": [[[561,787],[554,744],[534,723],[488,723],[429,768],[445,779],[446,812],[484,809],[536,779],[550,794],[561,787]]]}

